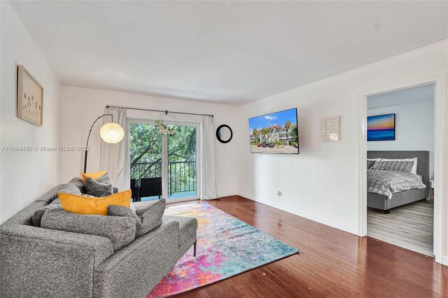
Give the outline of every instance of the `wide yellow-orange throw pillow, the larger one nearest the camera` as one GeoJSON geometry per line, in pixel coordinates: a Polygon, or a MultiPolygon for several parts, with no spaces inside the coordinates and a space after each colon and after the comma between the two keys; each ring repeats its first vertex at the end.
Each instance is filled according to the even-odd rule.
{"type": "Polygon", "coordinates": [[[58,192],[57,197],[61,200],[61,206],[65,211],[78,214],[107,215],[109,205],[131,206],[131,190],[117,192],[107,197],[83,197],[76,194],[58,192]]]}

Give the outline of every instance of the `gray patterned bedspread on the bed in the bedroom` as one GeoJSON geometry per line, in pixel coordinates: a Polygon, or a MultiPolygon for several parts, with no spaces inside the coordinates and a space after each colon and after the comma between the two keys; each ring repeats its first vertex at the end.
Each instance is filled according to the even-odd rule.
{"type": "Polygon", "coordinates": [[[426,188],[421,176],[414,173],[367,170],[367,192],[382,194],[391,199],[393,192],[426,188]]]}

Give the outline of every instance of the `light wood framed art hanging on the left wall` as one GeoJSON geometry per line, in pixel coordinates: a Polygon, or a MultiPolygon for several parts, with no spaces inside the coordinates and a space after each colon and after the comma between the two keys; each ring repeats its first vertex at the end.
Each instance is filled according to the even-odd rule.
{"type": "Polygon", "coordinates": [[[39,127],[42,126],[43,87],[23,67],[18,66],[17,117],[39,127]]]}

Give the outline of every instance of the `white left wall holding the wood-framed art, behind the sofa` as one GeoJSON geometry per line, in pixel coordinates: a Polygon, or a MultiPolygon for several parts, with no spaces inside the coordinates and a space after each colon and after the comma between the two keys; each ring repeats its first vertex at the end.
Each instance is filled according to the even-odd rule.
{"type": "MultiPolygon", "coordinates": [[[[60,85],[10,3],[1,1],[1,146],[59,146],[60,85]],[[16,117],[17,66],[43,86],[43,127],[16,117]]],[[[1,151],[0,222],[59,183],[59,152],[1,151]]]]}

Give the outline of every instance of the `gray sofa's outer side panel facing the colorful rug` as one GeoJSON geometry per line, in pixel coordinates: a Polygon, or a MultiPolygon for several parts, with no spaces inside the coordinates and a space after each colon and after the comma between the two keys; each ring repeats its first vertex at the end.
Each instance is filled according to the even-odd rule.
{"type": "Polygon", "coordinates": [[[94,268],[94,297],[146,297],[182,255],[179,222],[164,222],[94,268]]]}

